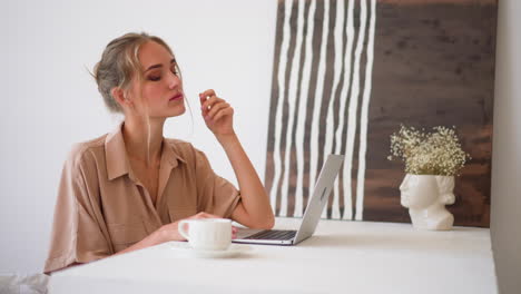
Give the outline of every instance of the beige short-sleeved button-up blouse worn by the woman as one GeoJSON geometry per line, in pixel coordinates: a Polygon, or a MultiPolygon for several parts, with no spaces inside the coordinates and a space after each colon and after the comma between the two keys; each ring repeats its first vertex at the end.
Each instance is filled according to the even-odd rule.
{"type": "Polygon", "coordinates": [[[205,154],[189,143],[164,139],[154,206],[130,168],[121,126],[76,145],[66,160],[46,273],[109,256],[199,212],[229,217],[240,202],[205,154]]]}

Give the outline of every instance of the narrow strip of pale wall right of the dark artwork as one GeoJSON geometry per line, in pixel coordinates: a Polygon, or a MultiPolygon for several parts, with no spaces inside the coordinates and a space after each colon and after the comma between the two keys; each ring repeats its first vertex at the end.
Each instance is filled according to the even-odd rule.
{"type": "Polygon", "coordinates": [[[491,235],[499,290],[521,290],[521,1],[500,0],[491,235]]]}

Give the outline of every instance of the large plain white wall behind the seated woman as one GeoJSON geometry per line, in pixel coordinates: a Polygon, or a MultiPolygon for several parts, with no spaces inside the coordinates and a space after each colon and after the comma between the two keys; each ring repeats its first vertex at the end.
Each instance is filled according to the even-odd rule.
{"type": "Polygon", "coordinates": [[[266,157],[276,4],[254,0],[1,1],[0,274],[41,271],[57,185],[76,141],[114,129],[87,69],[111,39],[147,31],[174,49],[194,109],[166,135],[193,141],[233,180],[199,117],[214,88],[235,108],[235,128],[262,178],[266,157]]]}

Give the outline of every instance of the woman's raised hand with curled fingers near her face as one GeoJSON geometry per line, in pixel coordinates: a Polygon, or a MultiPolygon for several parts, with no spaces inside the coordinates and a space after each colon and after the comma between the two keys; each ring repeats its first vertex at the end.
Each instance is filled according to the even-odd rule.
{"type": "Polygon", "coordinates": [[[234,108],[217,97],[214,90],[199,94],[200,109],[206,126],[215,136],[234,135],[234,108]]]}

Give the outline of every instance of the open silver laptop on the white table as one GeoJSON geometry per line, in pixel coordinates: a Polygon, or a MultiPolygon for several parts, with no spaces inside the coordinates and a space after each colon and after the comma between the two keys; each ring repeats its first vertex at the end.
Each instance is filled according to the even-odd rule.
{"type": "Polygon", "coordinates": [[[249,229],[240,228],[235,243],[268,244],[268,245],[295,245],[311,237],[321,219],[322,210],[327,203],[336,175],[344,161],[342,155],[330,155],[322,167],[316,180],[313,196],[307,205],[298,231],[282,229],[249,229]]]}

